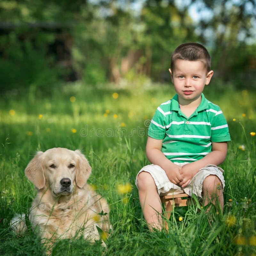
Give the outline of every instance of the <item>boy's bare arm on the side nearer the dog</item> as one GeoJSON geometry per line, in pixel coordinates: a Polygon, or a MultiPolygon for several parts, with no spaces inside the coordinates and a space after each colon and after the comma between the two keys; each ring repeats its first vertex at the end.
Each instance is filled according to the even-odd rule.
{"type": "Polygon", "coordinates": [[[159,165],[167,174],[168,179],[174,183],[180,183],[183,178],[179,172],[180,166],[173,164],[166,156],[164,156],[162,149],[163,140],[156,140],[148,137],[146,154],[151,164],[159,165]]]}

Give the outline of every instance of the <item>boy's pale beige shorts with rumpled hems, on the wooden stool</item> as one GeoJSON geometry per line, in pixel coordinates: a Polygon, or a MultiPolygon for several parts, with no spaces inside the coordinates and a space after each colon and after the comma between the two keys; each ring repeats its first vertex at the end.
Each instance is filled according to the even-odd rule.
{"type": "MultiPolygon", "coordinates": [[[[174,164],[180,165],[180,167],[182,167],[184,164],[187,164],[187,163],[174,163],[174,164]]],[[[138,174],[143,171],[150,173],[151,176],[153,177],[156,183],[156,188],[159,196],[164,196],[170,193],[172,193],[173,195],[186,193],[187,195],[191,196],[193,193],[197,197],[202,198],[203,181],[209,175],[216,175],[222,183],[222,188],[224,189],[225,187],[223,169],[213,164],[207,164],[205,167],[200,169],[199,172],[197,172],[196,175],[193,177],[193,179],[189,182],[188,186],[186,186],[185,188],[181,188],[178,185],[173,184],[168,179],[165,171],[159,165],[155,165],[155,164],[146,165],[143,168],[141,168],[138,174]]],[[[137,177],[138,177],[138,174],[137,174],[137,177]]],[[[137,177],[135,180],[135,185],[138,188],[137,177]]]]}

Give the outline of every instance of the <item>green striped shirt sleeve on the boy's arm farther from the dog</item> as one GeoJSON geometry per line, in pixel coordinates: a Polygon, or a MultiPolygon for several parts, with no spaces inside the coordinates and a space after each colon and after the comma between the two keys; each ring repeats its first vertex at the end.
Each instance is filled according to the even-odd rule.
{"type": "Polygon", "coordinates": [[[230,140],[227,121],[220,109],[213,116],[211,121],[211,141],[224,142],[230,140]]]}

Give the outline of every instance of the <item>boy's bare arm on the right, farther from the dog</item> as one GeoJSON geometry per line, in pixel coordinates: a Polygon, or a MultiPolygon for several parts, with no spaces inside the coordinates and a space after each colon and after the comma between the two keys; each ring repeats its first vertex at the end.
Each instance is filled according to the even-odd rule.
{"type": "Polygon", "coordinates": [[[179,183],[179,185],[182,188],[186,187],[196,173],[207,164],[215,164],[217,166],[220,165],[225,160],[227,151],[227,141],[212,142],[212,152],[200,160],[182,166],[180,169],[180,174],[184,179],[179,183]]]}

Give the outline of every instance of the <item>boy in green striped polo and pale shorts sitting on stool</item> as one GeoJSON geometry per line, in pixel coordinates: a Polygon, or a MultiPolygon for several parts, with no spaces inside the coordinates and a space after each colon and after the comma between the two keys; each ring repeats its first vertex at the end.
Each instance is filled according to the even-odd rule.
{"type": "Polygon", "coordinates": [[[230,140],[228,125],[217,105],[205,99],[204,85],[213,75],[211,57],[201,44],[178,46],[171,57],[172,100],[156,110],[148,128],[146,154],[151,165],[136,177],[140,205],[148,228],[161,230],[159,195],[195,194],[223,209],[223,170],[230,140]]]}

